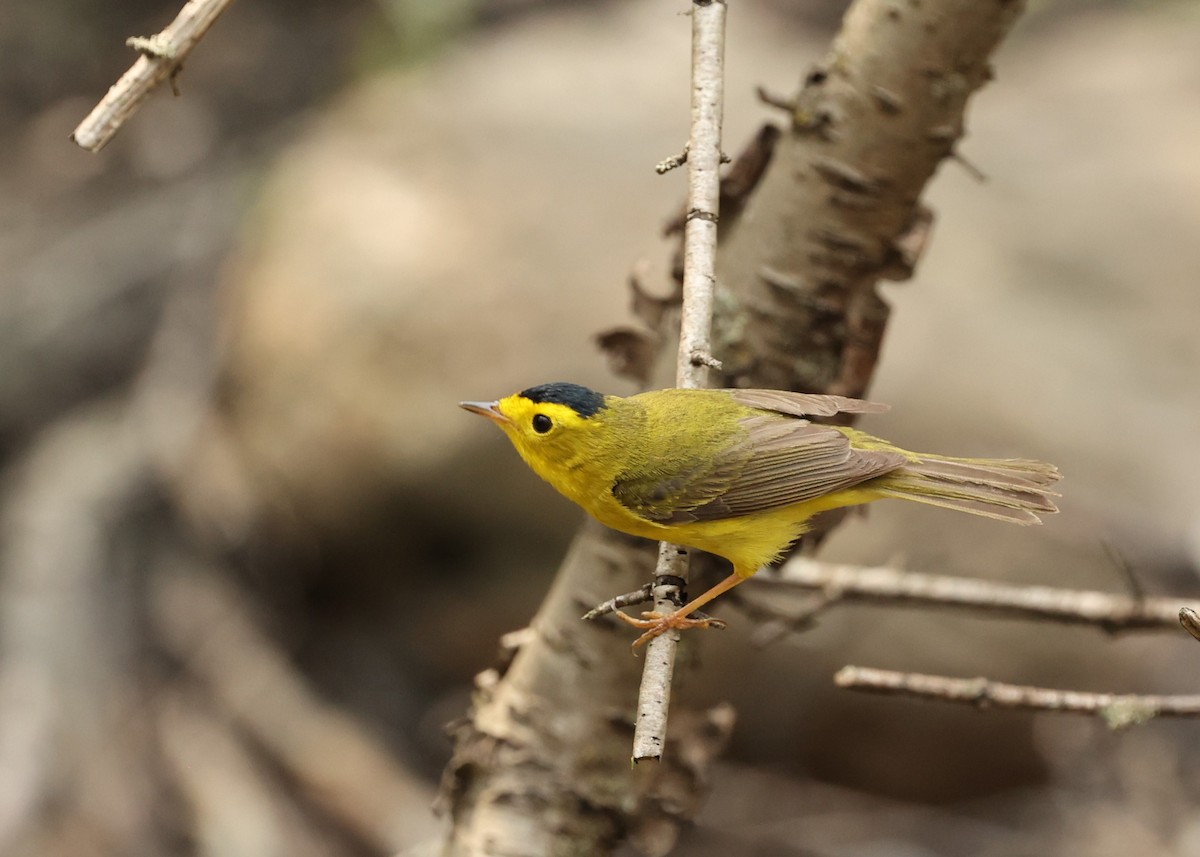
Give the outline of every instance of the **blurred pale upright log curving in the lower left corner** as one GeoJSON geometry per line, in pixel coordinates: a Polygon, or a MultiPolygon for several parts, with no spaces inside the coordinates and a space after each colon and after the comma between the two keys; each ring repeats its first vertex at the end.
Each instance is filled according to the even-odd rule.
{"type": "MultiPolygon", "coordinates": [[[[0,852],[79,838],[166,845],[142,723],[131,622],[136,555],[114,534],[144,502],[149,467],[121,402],[46,430],[0,509],[0,852]]],[[[134,551],[137,549],[133,549],[134,551]]],[[[169,798],[163,801],[169,803],[169,798]]]]}

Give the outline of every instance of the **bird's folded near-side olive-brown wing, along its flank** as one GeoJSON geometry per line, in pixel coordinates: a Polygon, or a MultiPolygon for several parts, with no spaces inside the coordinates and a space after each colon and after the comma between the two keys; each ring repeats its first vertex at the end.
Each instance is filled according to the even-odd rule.
{"type": "Polygon", "coordinates": [[[832,426],[770,414],[740,420],[739,437],[706,465],[618,478],[612,493],[659,523],[740,517],[848,489],[895,469],[898,453],[860,450],[832,426]]]}

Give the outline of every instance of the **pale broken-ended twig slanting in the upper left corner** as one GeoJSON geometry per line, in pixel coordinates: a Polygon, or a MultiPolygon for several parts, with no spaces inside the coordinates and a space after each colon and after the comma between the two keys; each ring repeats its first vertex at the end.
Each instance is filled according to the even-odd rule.
{"type": "Polygon", "coordinates": [[[174,86],[184,60],[232,2],[188,0],[162,32],[131,37],[126,44],[142,55],[79,122],[71,139],[88,151],[103,149],[155,86],[168,78],[174,86]]]}

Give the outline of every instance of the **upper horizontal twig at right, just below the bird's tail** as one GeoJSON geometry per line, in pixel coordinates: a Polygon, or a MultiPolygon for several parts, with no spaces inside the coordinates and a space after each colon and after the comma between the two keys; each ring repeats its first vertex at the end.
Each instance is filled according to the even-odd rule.
{"type": "Polygon", "coordinates": [[[1182,598],[1135,598],[1090,589],[996,583],[886,567],[835,565],[804,557],[791,559],[776,575],[762,575],[748,586],[817,589],[829,599],[826,606],[839,601],[878,601],[967,607],[1030,619],[1098,625],[1111,634],[1174,628],[1181,621],[1181,606],[1200,610],[1200,601],[1182,598]]]}

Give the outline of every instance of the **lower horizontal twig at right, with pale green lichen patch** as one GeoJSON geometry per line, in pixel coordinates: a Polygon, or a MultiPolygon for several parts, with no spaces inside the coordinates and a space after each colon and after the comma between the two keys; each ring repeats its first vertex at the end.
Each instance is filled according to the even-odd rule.
{"type": "Polygon", "coordinates": [[[844,666],[833,678],[848,690],[917,696],[959,702],[977,708],[1025,708],[1031,711],[1097,714],[1110,729],[1123,729],[1156,717],[1200,717],[1200,695],[1093,694],[1082,690],[1004,684],[988,678],[950,678],[919,672],[844,666]]]}

